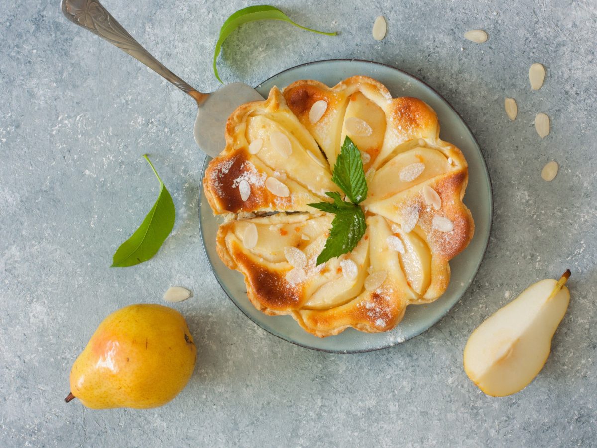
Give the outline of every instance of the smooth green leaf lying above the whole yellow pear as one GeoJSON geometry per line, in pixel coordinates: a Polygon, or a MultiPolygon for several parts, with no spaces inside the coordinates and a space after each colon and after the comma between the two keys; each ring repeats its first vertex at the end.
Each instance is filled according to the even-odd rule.
{"type": "Polygon", "coordinates": [[[159,180],[158,199],[147,213],[139,229],[118,248],[114,254],[112,268],[126,268],[149,260],[158,252],[174,227],[176,213],[172,197],[147,154],[143,157],[149,162],[153,174],[159,180]]]}

